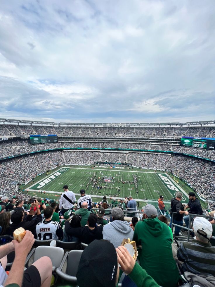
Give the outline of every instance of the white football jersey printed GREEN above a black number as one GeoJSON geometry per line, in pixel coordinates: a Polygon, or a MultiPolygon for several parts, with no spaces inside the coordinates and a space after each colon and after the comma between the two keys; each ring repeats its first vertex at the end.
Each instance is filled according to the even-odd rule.
{"type": "Polygon", "coordinates": [[[36,233],[38,240],[56,239],[57,229],[60,228],[58,221],[41,221],[36,226],[36,233]]]}

